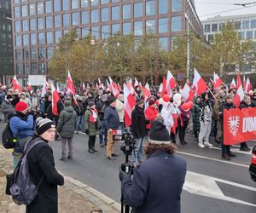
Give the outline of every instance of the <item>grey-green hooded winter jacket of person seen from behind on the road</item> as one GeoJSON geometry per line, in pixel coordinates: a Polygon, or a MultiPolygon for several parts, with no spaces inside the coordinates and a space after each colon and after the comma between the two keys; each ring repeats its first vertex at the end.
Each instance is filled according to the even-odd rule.
{"type": "Polygon", "coordinates": [[[57,125],[57,132],[61,137],[71,138],[74,135],[75,124],[77,123],[77,113],[72,106],[65,107],[61,111],[59,122],[57,125]]]}

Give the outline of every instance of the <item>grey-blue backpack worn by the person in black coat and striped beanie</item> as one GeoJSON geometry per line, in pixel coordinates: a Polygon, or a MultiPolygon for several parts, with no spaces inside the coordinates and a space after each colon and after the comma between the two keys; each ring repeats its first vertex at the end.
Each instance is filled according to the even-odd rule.
{"type": "Polygon", "coordinates": [[[29,171],[27,154],[32,150],[33,147],[37,146],[39,143],[43,143],[40,138],[34,141],[28,141],[24,150],[20,162],[17,165],[14,173],[11,176],[12,180],[11,187],[9,188],[10,195],[12,196],[15,204],[31,204],[31,202],[38,195],[38,188],[40,187],[43,177],[41,177],[38,185],[35,185],[32,180],[32,176],[29,171]]]}

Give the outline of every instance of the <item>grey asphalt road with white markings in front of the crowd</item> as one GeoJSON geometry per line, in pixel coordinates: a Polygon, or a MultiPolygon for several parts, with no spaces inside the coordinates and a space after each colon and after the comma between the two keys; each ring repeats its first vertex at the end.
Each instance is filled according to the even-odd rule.
{"type": "MultiPolygon", "coordinates": [[[[3,122],[0,124],[3,126],[3,122]]],[[[2,129],[2,128],[1,128],[2,129]]],[[[115,153],[119,157],[114,161],[106,158],[106,148],[98,145],[97,153],[88,153],[88,137],[76,134],[73,137],[74,159],[62,162],[61,141],[50,142],[55,155],[56,168],[66,176],[71,176],[84,184],[94,187],[109,198],[119,202],[120,182],[119,165],[125,161],[125,155],[119,150],[120,143],[115,144],[115,153]]],[[[217,147],[200,149],[191,134],[187,134],[186,146],[178,146],[178,155],[186,159],[188,174],[182,193],[183,213],[255,213],[256,182],[248,174],[250,153],[232,147],[237,157],[231,161],[220,158],[217,147]]],[[[248,143],[253,147],[255,141],[248,143]]]]}

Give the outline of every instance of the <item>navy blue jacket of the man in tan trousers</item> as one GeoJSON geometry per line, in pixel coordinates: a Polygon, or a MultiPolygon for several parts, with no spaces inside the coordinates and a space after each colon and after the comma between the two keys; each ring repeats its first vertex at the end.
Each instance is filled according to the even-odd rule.
{"type": "Polygon", "coordinates": [[[119,113],[117,112],[116,108],[108,106],[104,112],[104,120],[107,130],[119,129],[119,113]]]}

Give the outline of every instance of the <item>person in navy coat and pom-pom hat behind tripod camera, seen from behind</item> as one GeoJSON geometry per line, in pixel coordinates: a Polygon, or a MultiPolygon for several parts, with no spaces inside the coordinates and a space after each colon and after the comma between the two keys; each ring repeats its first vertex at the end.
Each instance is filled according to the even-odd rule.
{"type": "Polygon", "coordinates": [[[163,118],[151,125],[145,153],[148,158],[137,166],[134,176],[119,170],[125,204],[134,213],[179,213],[186,162],[175,154],[163,118]]]}

